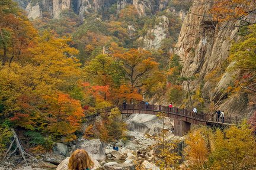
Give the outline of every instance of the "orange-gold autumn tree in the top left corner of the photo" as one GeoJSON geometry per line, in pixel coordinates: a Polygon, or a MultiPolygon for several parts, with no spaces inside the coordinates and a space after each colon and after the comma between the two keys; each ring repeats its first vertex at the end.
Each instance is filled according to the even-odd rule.
{"type": "Polygon", "coordinates": [[[11,0],[0,2],[0,55],[2,65],[21,60],[25,50],[33,46],[37,31],[11,0]]]}

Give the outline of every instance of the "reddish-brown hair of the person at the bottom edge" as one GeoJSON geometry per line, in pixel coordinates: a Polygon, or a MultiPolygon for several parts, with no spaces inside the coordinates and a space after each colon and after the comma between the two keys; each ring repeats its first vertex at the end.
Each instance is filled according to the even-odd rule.
{"type": "Polygon", "coordinates": [[[87,168],[93,168],[94,162],[92,162],[88,153],[84,149],[78,149],[72,153],[69,158],[68,168],[70,170],[85,170],[87,168]]]}

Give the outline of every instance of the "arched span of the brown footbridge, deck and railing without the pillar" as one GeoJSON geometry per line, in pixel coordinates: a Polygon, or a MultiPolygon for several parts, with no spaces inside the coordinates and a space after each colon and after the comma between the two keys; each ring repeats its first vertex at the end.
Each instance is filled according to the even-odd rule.
{"type": "MultiPolygon", "coordinates": [[[[237,124],[236,119],[233,117],[226,116],[224,122],[215,121],[216,117],[213,114],[204,113],[193,113],[187,109],[180,109],[178,107],[169,108],[168,106],[156,106],[149,104],[122,104],[119,106],[106,107],[105,109],[98,110],[97,112],[111,112],[111,109],[118,107],[121,114],[133,114],[133,113],[143,113],[149,115],[159,115],[159,113],[164,113],[166,117],[171,117],[172,119],[184,120],[185,122],[197,124],[197,125],[235,125],[237,124]]],[[[221,121],[221,120],[220,120],[221,121]]]]}

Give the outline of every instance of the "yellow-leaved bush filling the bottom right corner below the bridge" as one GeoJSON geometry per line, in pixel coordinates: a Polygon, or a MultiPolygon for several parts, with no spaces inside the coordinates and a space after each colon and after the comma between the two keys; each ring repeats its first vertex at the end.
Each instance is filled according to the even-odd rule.
{"type": "Polygon", "coordinates": [[[213,145],[212,160],[216,169],[255,168],[255,136],[247,122],[224,132],[217,130],[213,145]]]}

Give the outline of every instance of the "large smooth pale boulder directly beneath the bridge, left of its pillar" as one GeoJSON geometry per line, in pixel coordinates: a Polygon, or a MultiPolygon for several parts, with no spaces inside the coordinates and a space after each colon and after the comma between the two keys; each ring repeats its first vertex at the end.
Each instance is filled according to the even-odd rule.
{"type": "MultiPolygon", "coordinates": [[[[126,119],[127,128],[133,132],[149,133],[158,135],[162,130],[162,120],[155,115],[132,114],[126,119]]],[[[174,122],[169,117],[165,117],[165,129],[172,129],[174,122]]]]}

